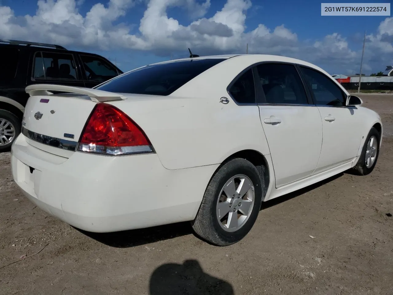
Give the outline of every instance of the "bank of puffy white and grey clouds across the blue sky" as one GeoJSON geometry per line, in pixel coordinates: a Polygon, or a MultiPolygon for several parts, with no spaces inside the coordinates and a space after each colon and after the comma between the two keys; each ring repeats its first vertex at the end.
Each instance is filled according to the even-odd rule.
{"type": "MultiPolygon", "coordinates": [[[[342,35],[331,33],[318,41],[299,41],[284,24],[267,28],[259,24],[246,28],[251,0],[227,0],[211,18],[205,18],[210,0],[105,0],[81,15],[84,0],[39,0],[35,15],[17,17],[10,7],[0,6],[0,38],[53,42],[63,46],[112,50],[128,48],[169,55],[186,48],[198,54],[270,53],[306,59],[319,64],[338,63],[356,68],[360,51],[349,48],[342,35]],[[132,24],[117,24],[135,4],[147,3],[137,33],[132,24]],[[190,23],[182,25],[167,15],[170,7],[181,7],[190,23]],[[116,25],[114,25],[116,23],[116,25]],[[355,66],[354,66],[355,65],[355,66]]],[[[380,23],[375,34],[367,36],[367,61],[380,54],[393,53],[393,18],[380,23]]],[[[390,56],[389,55],[389,56],[390,56]]],[[[391,57],[389,57],[391,59],[391,57]]]]}

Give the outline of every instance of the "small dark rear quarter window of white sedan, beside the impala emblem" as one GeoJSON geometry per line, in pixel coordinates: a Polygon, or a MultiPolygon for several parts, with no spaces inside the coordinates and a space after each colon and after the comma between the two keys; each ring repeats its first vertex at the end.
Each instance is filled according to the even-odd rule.
{"type": "Polygon", "coordinates": [[[252,69],[236,79],[231,85],[229,93],[237,103],[255,103],[255,83],[252,69]]]}

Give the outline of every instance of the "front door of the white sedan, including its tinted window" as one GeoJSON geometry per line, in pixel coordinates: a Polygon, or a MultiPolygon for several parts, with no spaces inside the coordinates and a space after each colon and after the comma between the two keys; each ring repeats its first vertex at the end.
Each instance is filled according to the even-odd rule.
{"type": "Polygon", "coordinates": [[[321,157],[314,174],[356,157],[362,134],[356,107],[346,107],[346,94],[332,78],[318,70],[299,66],[317,105],[323,124],[321,157]]]}

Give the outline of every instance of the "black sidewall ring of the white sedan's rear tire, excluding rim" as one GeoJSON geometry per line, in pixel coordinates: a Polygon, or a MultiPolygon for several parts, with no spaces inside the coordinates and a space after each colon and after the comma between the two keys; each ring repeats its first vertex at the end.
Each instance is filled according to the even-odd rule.
{"type": "Polygon", "coordinates": [[[230,162],[226,163],[212,179],[212,181],[215,181],[214,178],[218,178],[212,190],[213,195],[211,195],[209,198],[211,202],[209,206],[210,224],[213,230],[218,234],[220,240],[223,240],[228,244],[241,240],[244,238],[244,236],[246,236],[246,234],[248,234],[248,232],[250,232],[261,208],[263,194],[261,176],[259,175],[255,166],[253,166],[251,162],[247,162],[248,161],[244,159],[231,160],[230,162]],[[222,229],[217,219],[217,202],[220,197],[219,194],[221,189],[224,187],[226,182],[231,179],[231,177],[238,174],[246,175],[252,181],[254,186],[254,205],[250,217],[246,223],[235,232],[227,232],[222,229]]]}

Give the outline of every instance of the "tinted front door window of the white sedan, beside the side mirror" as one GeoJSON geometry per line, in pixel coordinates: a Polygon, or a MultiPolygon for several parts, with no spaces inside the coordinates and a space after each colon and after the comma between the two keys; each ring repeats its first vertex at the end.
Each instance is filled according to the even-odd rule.
{"type": "Polygon", "coordinates": [[[345,105],[345,95],[342,90],[325,74],[316,70],[300,66],[300,70],[314,94],[317,105],[333,105],[342,107],[345,105]]]}

